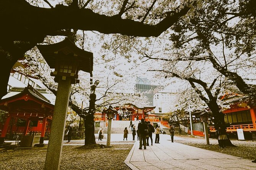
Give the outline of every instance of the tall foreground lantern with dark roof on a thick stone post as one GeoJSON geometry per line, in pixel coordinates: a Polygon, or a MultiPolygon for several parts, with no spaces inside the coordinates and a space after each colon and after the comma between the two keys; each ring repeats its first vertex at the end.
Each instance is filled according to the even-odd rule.
{"type": "Polygon", "coordinates": [[[51,133],[47,148],[45,170],[58,170],[64,139],[71,84],[79,83],[78,71],[93,71],[93,53],[78,48],[68,38],[51,45],[37,45],[58,82],[52,117],[51,133]]]}

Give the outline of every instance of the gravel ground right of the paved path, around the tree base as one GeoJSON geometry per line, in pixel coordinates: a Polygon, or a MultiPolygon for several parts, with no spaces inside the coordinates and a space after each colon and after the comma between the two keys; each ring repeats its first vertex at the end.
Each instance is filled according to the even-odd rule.
{"type": "MultiPolygon", "coordinates": [[[[178,135],[177,135],[178,136],[178,135]]],[[[233,155],[237,157],[242,157],[245,159],[254,160],[256,158],[256,141],[238,141],[231,140],[232,144],[236,147],[227,146],[226,149],[221,149],[218,146],[218,140],[209,139],[210,145],[206,144],[205,138],[190,136],[178,136],[186,140],[176,140],[177,143],[186,144],[189,146],[195,146],[197,148],[207,149],[210,151],[220,152],[223,154],[233,155]]]]}

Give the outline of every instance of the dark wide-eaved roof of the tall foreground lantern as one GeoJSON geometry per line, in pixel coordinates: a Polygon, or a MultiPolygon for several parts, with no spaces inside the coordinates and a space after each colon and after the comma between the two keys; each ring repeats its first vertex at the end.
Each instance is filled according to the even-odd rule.
{"type": "Polygon", "coordinates": [[[78,60],[79,70],[89,73],[93,71],[93,53],[78,48],[69,38],[59,43],[36,47],[50,68],[55,68],[56,60],[74,59],[78,60]]]}

